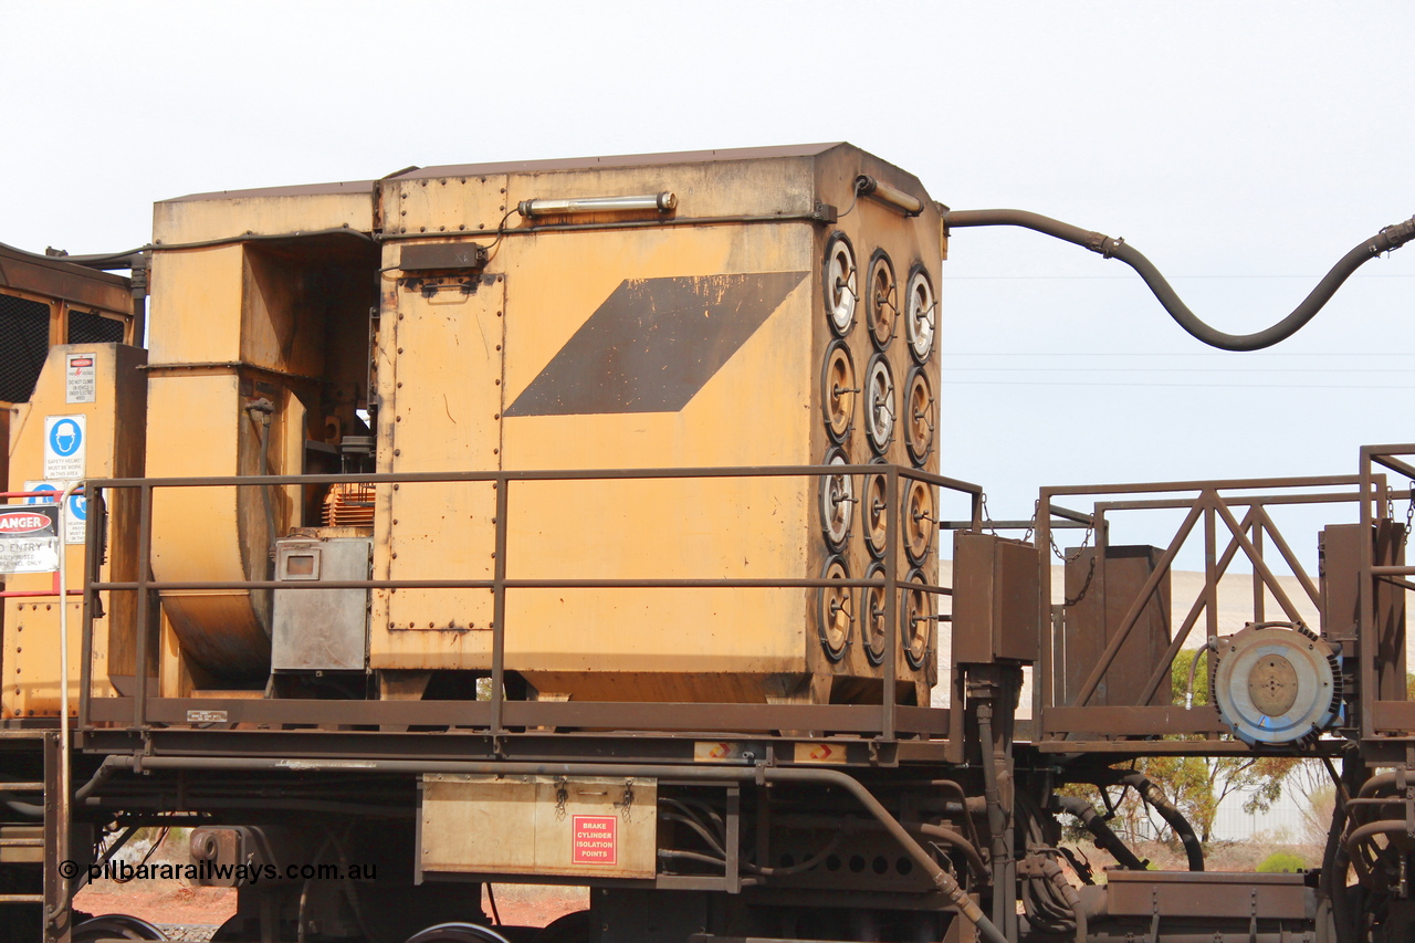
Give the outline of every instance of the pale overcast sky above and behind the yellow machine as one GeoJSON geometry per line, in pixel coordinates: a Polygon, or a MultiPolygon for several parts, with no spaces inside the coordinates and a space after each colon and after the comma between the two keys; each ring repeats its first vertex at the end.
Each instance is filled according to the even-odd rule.
{"type": "MultiPolygon", "coordinates": [[[[140,245],[187,193],[849,140],[954,208],[1125,236],[1248,331],[1415,212],[1409,3],[0,0],[0,241],[35,251],[140,245]]],[[[955,232],[941,295],[942,469],[996,515],[1415,439],[1415,246],[1261,354],[1020,231],[955,232]]]]}

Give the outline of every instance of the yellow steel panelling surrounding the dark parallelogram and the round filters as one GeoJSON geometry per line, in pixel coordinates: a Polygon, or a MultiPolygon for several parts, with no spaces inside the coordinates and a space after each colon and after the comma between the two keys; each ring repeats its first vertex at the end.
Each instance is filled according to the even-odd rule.
{"type": "MultiPolygon", "coordinates": [[[[862,170],[900,177],[882,161],[869,159],[862,164],[862,157],[867,156],[846,147],[833,163],[785,159],[389,181],[383,184],[383,207],[389,224],[396,224],[395,232],[426,232],[429,242],[446,239],[434,232],[494,229],[508,207],[536,197],[671,190],[678,195],[678,217],[804,214],[818,201],[846,205],[855,174],[862,170]]],[[[921,193],[917,181],[913,188],[921,193]]],[[[396,278],[402,246],[386,246],[383,265],[393,275],[383,290],[378,362],[385,408],[395,402],[396,409],[393,415],[385,409],[381,418],[382,447],[392,445],[391,455],[381,450],[381,470],[821,462],[828,443],[821,428],[819,370],[833,337],[824,316],[821,255],[835,228],[792,219],[508,235],[487,269],[495,280],[484,279],[474,295],[440,289],[436,303],[422,297],[423,282],[396,278]],[[518,399],[623,286],[739,273],[797,278],[761,327],[681,409],[515,415],[518,399]],[[498,320],[492,313],[499,314],[502,303],[504,317],[498,320]],[[437,316],[432,314],[434,309],[437,316]],[[430,317],[441,319],[437,336],[419,333],[430,317]],[[502,338],[504,357],[497,348],[502,338]],[[470,377],[449,385],[457,365],[470,377]],[[457,395],[444,399],[447,391],[457,395]],[[473,425],[464,425],[468,419],[463,415],[446,412],[447,402],[475,404],[470,411],[473,425]],[[413,404],[420,419],[409,412],[413,404]],[[487,425],[502,412],[507,415],[499,428],[495,422],[487,425]],[[473,430],[484,436],[480,449],[464,445],[461,438],[473,430]],[[409,460],[410,452],[420,457],[409,460]],[[468,459],[475,453],[480,464],[449,464],[453,453],[468,459]]],[[[924,217],[906,219],[896,210],[862,201],[838,228],[862,246],[865,261],[876,245],[887,245],[901,278],[907,279],[916,262],[924,265],[937,292],[942,251],[932,205],[924,217]]],[[[872,351],[863,323],[846,340],[863,374],[872,351]]],[[[904,343],[900,337],[893,344],[899,388],[910,367],[904,343]]],[[[613,367],[584,364],[584,375],[577,379],[593,385],[596,368],[613,367]]],[[[937,389],[937,355],[925,371],[937,389]]],[[[852,462],[866,463],[873,456],[859,430],[848,439],[846,450],[852,462]]],[[[883,457],[910,464],[899,436],[883,457]]],[[[925,467],[937,470],[937,452],[925,467]]],[[[815,576],[825,561],[816,488],[815,480],[792,479],[512,483],[508,576],[815,576]]],[[[379,511],[379,575],[434,579],[457,571],[467,578],[490,578],[490,488],[477,494],[471,486],[403,486],[402,491],[385,493],[379,511]],[[392,505],[408,500],[405,491],[423,490],[432,491],[427,500],[436,514],[443,513],[447,497],[461,496],[453,508],[464,517],[450,532],[446,525],[451,518],[446,518],[436,542],[426,547],[417,541],[427,532],[423,518],[433,510],[424,508],[423,518],[410,525],[392,505]],[[409,538],[412,549],[405,549],[409,538]]],[[[846,556],[852,576],[863,576],[867,562],[857,528],[846,556]]],[[[937,562],[924,569],[932,581],[937,562]]],[[[382,607],[375,605],[374,667],[490,667],[490,633],[484,631],[490,593],[458,592],[453,612],[439,602],[447,590],[398,590],[392,596],[406,600],[402,609],[388,603],[386,593],[379,596],[385,602],[382,607]],[[396,612],[403,617],[393,617],[396,612]]],[[[811,684],[812,677],[880,677],[880,668],[869,664],[859,644],[839,664],[829,663],[819,651],[814,620],[815,590],[509,590],[507,667],[546,695],[591,699],[825,699],[831,685],[811,684]]],[[[899,673],[910,685],[928,675],[903,658],[899,673]]],[[[853,695],[846,691],[846,697],[853,695]]]]}

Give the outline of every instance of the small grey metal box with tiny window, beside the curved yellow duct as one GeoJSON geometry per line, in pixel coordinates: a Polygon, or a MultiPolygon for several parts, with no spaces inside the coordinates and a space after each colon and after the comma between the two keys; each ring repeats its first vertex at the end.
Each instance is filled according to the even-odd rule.
{"type": "MultiPolygon", "coordinates": [[[[280,582],[368,579],[368,537],[287,537],[275,545],[280,582]]],[[[366,589],[277,589],[270,667],[275,671],[362,671],[368,650],[366,589]]]]}

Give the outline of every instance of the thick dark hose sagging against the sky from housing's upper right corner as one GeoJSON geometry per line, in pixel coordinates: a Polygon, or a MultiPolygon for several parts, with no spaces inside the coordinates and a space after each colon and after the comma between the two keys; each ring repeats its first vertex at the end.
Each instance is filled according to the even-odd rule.
{"type": "Polygon", "coordinates": [[[1098,252],[1107,259],[1119,259],[1145,279],[1145,285],[1149,286],[1155,297],[1159,299],[1159,303],[1165,306],[1165,310],[1169,312],[1169,316],[1180,327],[1210,347],[1218,347],[1220,350],[1262,350],[1292,337],[1322,310],[1332,296],[1336,295],[1336,290],[1341,287],[1341,283],[1368,259],[1374,259],[1381,252],[1398,249],[1411,239],[1415,239],[1415,217],[1411,217],[1405,222],[1385,227],[1341,256],[1341,261],[1332,266],[1332,270],[1317,282],[1312,293],[1281,321],[1252,334],[1227,334],[1199,320],[1189,310],[1189,306],[1180,300],[1174,289],[1170,287],[1170,283],[1165,280],[1165,276],[1159,273],[1155,263],[1146,259],[1139,249],[1126,245],[1125,239],[1114,239],[1102,232],[1091,232],[1024,210],[954,210],[944,214],[944,225],[949,228],[1022,227],[1023,229],[1041,232],[1090,249],[1091,252],[1098,252]]]}

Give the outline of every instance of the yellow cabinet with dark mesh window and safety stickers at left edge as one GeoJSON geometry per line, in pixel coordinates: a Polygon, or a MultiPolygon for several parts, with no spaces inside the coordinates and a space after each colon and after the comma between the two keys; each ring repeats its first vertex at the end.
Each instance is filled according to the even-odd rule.
{"type": "MultiPolygon", "coordinates": [[[[10,491],[59,491],[75,479],[142,474],[146,382],[142,306],[129,279],[0,246],[0,483],[10,491]],[[134,310],[136,307],[136,310],[134,310]],[[47,445],[50,443],[50,445],[47,445]]],[[[16,504],[30,498],[13,498],[16,504]]],[[[71,525],[59,535],[69,589],[83,585],[86,503],[69,503],[71,525]]],[[[132,528],[132,505],[117,500],[113,521],[132,528]]],[[[130,558],[103,568],[132,578],[130,558]]],[[[0,576],[7,593],[0,617],[0,722],[59,714],[59,612],[55,573],[0,576]]],[[[100,598],[93,677],[110,694],[109,675],[132,675],[132,600],[100,598]],[[116,643],[109,644],[109,630],[116,643]]],[[[79,692],[81,602],[71,596],[69,681],[79,692]]]]}

